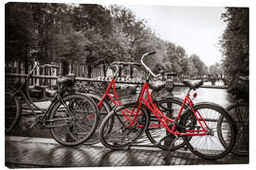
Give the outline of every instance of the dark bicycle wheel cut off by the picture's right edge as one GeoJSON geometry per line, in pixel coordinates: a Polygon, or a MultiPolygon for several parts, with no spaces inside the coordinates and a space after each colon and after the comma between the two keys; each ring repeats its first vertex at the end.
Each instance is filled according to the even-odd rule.
{"type": "MultiPolygon", "coordinates": [[[[237,128],[237,135],[236,135],[236,143],[234,144],[234,147],[232,148],[231,152],[235,155],[240,156],[247,156],[248,155],[248,148],[249,148],[249,129],[248,129],[248,104],[239,103],[232,105],[228,108],[229,115],[232,117],[235,126],[237,128]]],[[[222,127],[222,125],[225,123],[226,119],[222,116],[220,117],[219,126],[222,127]]],[[[224,140],[225,136],[222,132],[222,128],[218,128],[220,135],[220,140],[223,144],[226,144],[226,141],[224,140]]]]}

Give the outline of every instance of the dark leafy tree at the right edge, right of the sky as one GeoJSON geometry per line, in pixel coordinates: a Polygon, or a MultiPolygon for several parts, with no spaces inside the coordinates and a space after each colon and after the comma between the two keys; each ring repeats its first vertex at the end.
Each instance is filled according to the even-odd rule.
{"type": "Polygon", "coordinates": [[[230,76],[248,76],[248,8],[226,8],[228,24],[221,39],[223,66],[230,76]]]}

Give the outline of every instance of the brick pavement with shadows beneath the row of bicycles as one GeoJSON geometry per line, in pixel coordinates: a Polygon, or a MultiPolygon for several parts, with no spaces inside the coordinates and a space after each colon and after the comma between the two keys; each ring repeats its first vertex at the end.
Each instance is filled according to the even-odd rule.
{"type": "Polygon", "coordinates": [[[68,147],[48,141],[43,138],[6,137],[6,165],[22,168],[248,163],[248,157],[232,154],[221,160],[206,161],[190,151],[178,150],[164,159],[166,152],[154,147],[109,150],[101,144],[68,147]]]}

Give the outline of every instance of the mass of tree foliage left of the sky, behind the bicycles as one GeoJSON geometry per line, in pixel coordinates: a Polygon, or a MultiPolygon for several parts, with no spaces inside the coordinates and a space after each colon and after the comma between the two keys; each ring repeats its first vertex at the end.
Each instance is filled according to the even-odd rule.
{"type": "Polygon", "coordinates": [[[25,59],[29,51],[37,50],[43,62],[86,64],[91,77],[93,68],[100,64],[139,61],[144,53],[156,51],[146,59],[154,71],[191,76],[207,73],[197,55],[188,58],[182,46],[159,38],[129,8],[9,3],[6,19],[6,59],[25,59]]]}

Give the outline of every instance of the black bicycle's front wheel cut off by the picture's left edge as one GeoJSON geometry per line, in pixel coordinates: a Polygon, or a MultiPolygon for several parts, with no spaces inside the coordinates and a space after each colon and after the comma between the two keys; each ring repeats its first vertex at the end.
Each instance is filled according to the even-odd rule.
{"type": "Polygon", "coordinates": [[[21,113],[20,100],[13,93],[6,92],[5,111],[5,131],[9,133],[17,125],[21,113]]]}

